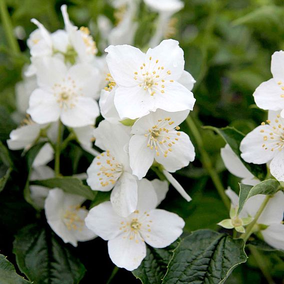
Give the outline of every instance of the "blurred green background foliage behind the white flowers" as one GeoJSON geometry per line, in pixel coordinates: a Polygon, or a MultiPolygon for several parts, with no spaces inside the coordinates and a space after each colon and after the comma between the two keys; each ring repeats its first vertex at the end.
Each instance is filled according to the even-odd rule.
{"type": "MultiPolygon", "coordinates": [[[[0,3],[2,4],[2,0],[0,3]]],[[[284,48],[284,5],[282,0],[184,0],[184,9],[174,15],[172,34],[170,37],[179,40],[184,50],[185,69],[196,79],[193,89],[196,98],[194,111],[190,114],[197,123],[202,135],[204,147],[208,152],[215,170],[220,174],[224,187],[231,186],[238,190],[239,179],[228,173],[220,158],[220,147],[223,140],[211,130],[205,130],[202,125],[217,127],[231,125],[243,133],[247,133],[265,119],[266,112],[258,109],[252,93],[258,84],[271,77],[271,54],[284,48]]],[[[63,28],[60,13],[61,4],[68,5],[68,12],[74,24],[89,26],[95,40],[99,42],[101,34],[96,26],[99,14],[104,14],[114,23],[113,7],[107,0],[6,0],[11,16],[15,36],[18,39],[20,53],[12,51],[7,44],[2,22],[0,23],[0,112],[2,120],[9,120],[8,113],[15,110],[14,85],[21,79],[22,67],[29,62],[26,39],[35,29],[30,18],[36,18],[50,31],[63,28]]],[[[153,32],[155,13],[141,3],[137,20],[139,28],[135,37],[135,45],[145,48],[153,32]]],[[[100,53],[103,50],[99,50],[100,53]]],[[[0,122],[1,123],[1,122],[0,122]]],[[[12,123],[12,122],[10,122],[12,123]]],[[[1,126],[1,125],[0,125],[1,126]]],[[[187,125],[182,130],[188,132],[187,125]]],[[[1,137],[4,141],[7,137],[1,137]]],[[[194,137],[191,137],[194,142],[194,137]]],[[[82,172],[90,162],[89,157],[74,145],[67,148],[69,154],[78,160],[76,167],[82,172]],[[82,157],[81,157],[82,156],[82,157]]],[[[66,153],[64,156],[68,157],[66,153]]],[[[177,212],[185,221],[185,234],[199,228],[220,230],[218,221],[227,217],[227,211],[216,193],[206,170],[202,168],[200,156],[196,149],[196,160],[188,167],[178,171],[176,177],[192,197],[187,203],[174,190],[170,190],[162,207],[177,212]]],[[[66,158],[66,166],[69,164],[66,158]],[[68,163],[68,164],[67,164],[68,163]]],[[[20,161],[18,166],[20,166],[20,161]]],[[[66,174],[73,172],[67,172],[66,174]]],[[[0,250],[11,254],[12,236],[22,224],[27,223],[29,206],[18,202],[24,186],[26,172],[14,173],[9,180],[11,188],[1,195],[0,213],[11,207],[14,216],[6,216],[1,220],[1,231],[7,229],[5,235],[0,235],[0,250]],[[14,193],[15,192],[15,193],[14,193]],[[11,197],[11,194],[14,194],[11,197]],[[25,208],[27,207],[27,208],[25,208]],[[25,217],[20,213],[24,212],[25,217]],[[18,216],[21,216],[18,218],[18,216]],[[13,228],[9,228],[12,221],[13,228]]],[[[2,217],[1,217],[2,218],[2,217]]],[[[89,246],[81,243],[77,254],[85,264],[88,272],[82,283],[89,283],[93,273],[101,274],[101,282],[105,282],[111,273],[112,264],[106,252],[106,242],[95,240],[89,246]],[[99,248],[98,248],[99,247],[99,248]],[[93,250],[91,250],[93,249],[93,250]],[[93,260],[89,260],[91,256],[93,260]],[[97,270],[94,268],[96,266],[97,270]],[[96,272],[94,272],[96,270],[96,272]]],[[[250,254],[250,251],[247,250],[250,254]]],[[[283,255],[274,252],[259,252],[266,268],[274,277],[276,283],[283,282],[283,255]]],[[[258,255],[259,256],[259,255],[258,255]]],[[[131,273],[120,269],[115,280],[124,279],[135,282],[131,273]],[[121,271],[120,271],[121,270],[121,271]]],[[[139,282],[136,280],[137,283],[139,282]]],[[[226,283],[266,283],[255,262],[255,255],[249,261],[238,267],[226,283]]]]}

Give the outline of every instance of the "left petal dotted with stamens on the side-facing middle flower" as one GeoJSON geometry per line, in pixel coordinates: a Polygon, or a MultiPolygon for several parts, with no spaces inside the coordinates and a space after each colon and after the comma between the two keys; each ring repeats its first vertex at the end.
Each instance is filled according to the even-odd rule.
{"type": "Polygon", "coordinates": [[[92,190],[109,191],[114,186],[121,172],[113,173],[111,171],[112,167],[107,161],[110,159],[114,164],[119,161],[112,160],[112,157],[109,157],[107,152],[103,152],[102,154],[96,156],[87,168],[88,177],[86,181],[92,190]],[[105,170],[106,168],[109,168],[109,170],[105,170]]]}

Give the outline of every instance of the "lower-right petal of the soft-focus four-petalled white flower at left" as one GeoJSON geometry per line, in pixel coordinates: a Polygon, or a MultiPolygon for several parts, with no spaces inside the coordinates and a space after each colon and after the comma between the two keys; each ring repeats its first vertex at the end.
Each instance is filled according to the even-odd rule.
{"type": "Polygon", "coordinates": [[[74,107],[62,110],[60,118],[66,126],[81,127],[93,125],[98,115],[99,108],[97,102],[91,97],[80,96],[74,107]]]}

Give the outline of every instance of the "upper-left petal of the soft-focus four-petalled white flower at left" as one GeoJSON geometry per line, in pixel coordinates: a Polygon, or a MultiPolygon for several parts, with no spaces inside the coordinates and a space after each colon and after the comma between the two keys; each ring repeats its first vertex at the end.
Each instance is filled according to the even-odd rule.
{"type": "Polygon", "coordinates": [[[39,87],[50,92],[52,92],[54,83],[61,82],[67,72],[65,64],[55,57],[34,58],[32,64],[36,67],[36,78],[39,87]]]}

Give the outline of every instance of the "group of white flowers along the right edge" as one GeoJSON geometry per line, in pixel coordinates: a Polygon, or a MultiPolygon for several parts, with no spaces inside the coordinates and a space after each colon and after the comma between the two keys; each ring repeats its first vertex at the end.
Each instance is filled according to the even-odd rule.
{"type": "MultiPolygon", "coordinates": [[[[284,181],[284,104],[282,101],[284,87],[281,81],[284,76],[281,65],[283,60],[283,51],[274,52],[271,60],[273,78],[261,83],[253,93],[256,105],[262,109],[268,109],[268,119],[261,122],[261,125],[242,139],[239,147],[240,157],[228,144],[221,149],[225,166],[232,174],[242,178],[241,182],[244,184],[256,185],[260,180],[247,169],[243,161],[254,164],[267,163],[269,174],[278,181],[284,181]]],[[[255,217],[265,196],[258,194],[250,197],[237,214],[238,196],[230,188],[226,190],[226,194],[231,200],[230,219],[222,220],[218,224],[244,232],[243,226],[249,224],[255,217]]],[[[268,244],[278,249],[284,249],[283,213],[284,193],[280,190],[270,198],[253,228],[254,232],[261,233],[268,244]]]]}

